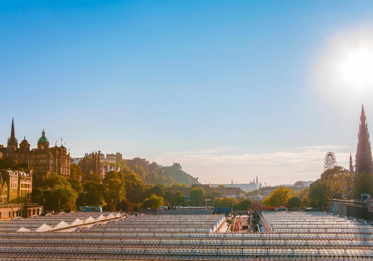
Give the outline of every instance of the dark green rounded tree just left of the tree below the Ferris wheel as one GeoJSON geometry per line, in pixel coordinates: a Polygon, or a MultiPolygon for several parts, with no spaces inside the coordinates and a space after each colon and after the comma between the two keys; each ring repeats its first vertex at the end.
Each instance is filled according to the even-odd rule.
{"type": "Polygon", "coordinates": [[[310,184],[310,191],[308,198],[312,207],[326,207],[331,195],[331,188],[329,185],[321,182],[320,179],[310,184]]]}

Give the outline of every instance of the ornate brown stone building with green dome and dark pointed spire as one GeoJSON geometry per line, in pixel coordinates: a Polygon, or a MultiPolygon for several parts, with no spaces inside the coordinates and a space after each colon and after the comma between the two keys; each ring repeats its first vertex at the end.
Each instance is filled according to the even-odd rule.
{"type": "Polygon", "coordinates": [[[54,147],[49,147],[49,141],[44,129],[37,142],[36,149],[30,149],[31,146],[26,137],[19,144],[19,148],[15,147],[17,139],[15,138],[13,121],[10,136],[10,146],[3,148],[4,152],[6,152],[5,157],[11,158],[17,164],[28,163],[28,166],[33,169],[34,177],[44,179],[52,172],[56,172],[66,178],[70,177],[70,153],[63,145],[57,146],[56,144],[54,147]]]}

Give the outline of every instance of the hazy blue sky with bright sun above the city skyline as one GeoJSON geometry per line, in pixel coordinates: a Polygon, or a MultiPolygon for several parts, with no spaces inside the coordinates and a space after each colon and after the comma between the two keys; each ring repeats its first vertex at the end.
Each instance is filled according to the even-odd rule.
{"type": "Polygon", "coordinates": [[[372,1],[48,2],[0,5],[0,144],[14,116],[33,148],[275,185],[348,167],[361,103],[373,130],[372,1]]]}

